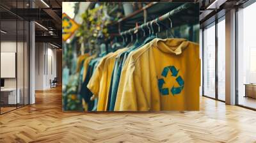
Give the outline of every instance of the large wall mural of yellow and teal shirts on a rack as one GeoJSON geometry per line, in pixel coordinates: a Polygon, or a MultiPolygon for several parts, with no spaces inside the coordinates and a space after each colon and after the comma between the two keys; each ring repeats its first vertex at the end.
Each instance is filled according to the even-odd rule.
{"type": "Polygon", "coordinates": [[[198,3],[67,3],[63,111],[199,110],[198,3]]]}

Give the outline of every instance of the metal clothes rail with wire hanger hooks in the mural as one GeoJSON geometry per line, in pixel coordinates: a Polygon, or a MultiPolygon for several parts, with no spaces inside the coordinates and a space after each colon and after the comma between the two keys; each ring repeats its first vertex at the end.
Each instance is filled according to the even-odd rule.
{"type": "MultiPolygon", "coordinates": [[[[146,27],[146,26],[148,27],[148,25],[150,25],[151,29],[153,29],[152,24],[156,24],[158,26],[158,29],[160,30],[160,26],[159,26],[158,22],[163,21],[165,19],[169,19],[171,21],[171,27],[172,27],[172,20],[170,19],[170,17],[172,17],[173,15],[176,15],[177,13],[179,13],[182,10],[187,10],[191,5],[192,4],[190,4],[190,3],[182,4],[181,6],[173,9],[172,11],[169,11],[168,13],[165,13],[161,17],[158,17],[157,19],[148,21],[147,23],[142,24],[141,26],[134,27],[134,28],[129,29],[127,31],[121,32],[120,35],[123,36],[123,35],[126,35],[126,34],[136,33],[134,31],[139,31],[139,30],[145,31],[143,28],[146,27]]],[[[150,29],[150,28],[148,27],[148,29],[150,29]]],[[[153,31],[153,33],[154,33],[154,31],[153,31]]]]}

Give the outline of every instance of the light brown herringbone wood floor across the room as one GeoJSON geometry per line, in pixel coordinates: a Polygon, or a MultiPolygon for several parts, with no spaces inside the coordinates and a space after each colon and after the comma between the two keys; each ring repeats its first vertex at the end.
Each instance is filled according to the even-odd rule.
{"type": "Polygon", "coordinates": [[[200,99],[199,112],[61,111],[61,88],[0,116],[0,142],[256,142],[256,112],[200,99]]]}

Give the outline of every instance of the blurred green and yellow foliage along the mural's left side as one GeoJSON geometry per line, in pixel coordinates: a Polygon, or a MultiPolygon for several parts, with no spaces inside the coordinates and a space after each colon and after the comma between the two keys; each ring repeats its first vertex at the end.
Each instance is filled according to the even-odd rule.
{"type": "MultiPolygon", "coordinates": [[[[102,40],[106,40],[109,37],[109,31],[107,26],[120,19],[122,11],[120,10],[120,4],[116,3],[98,3],[95,8],[86,10],[81,15],[83,23],[80,25],[76,32],[76,38],[74,42],[65,47],[63,51],[63,65],[68,66],[70,73],[68,76],[67,85],[63,86],[63,109],[64,110],[83,110],[81,96],[78,93],[79,90],[79,73],[72,73],[76,71],[76,60],[79,52],[76,44],[76,39],[80,44],[84,44],[85,49],[91,49],[91,51],[99,50],[99,43],[102,40]],[[75,54],[77,52],[77,54],[75,54]]],[[[74,7],[77,13],[79,3],[74,7]]]]}

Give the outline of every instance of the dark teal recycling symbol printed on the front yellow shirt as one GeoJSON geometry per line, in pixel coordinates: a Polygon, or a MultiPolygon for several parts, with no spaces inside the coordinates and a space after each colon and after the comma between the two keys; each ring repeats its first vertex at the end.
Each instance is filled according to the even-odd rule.
{"type": "MultiPolygon", "coordinates": [[[[182,77],[178,76],[179,70],[177,70],[175,68],[175,66],[166,66],[163,69],[163,72],[161,73],[161,75],[163,77],[166,77],[168,72],[172,73],[172,77],[176,77],[176,82],[179,84],[178,87],[172,87],[172,89],[170,89],[170,92],[172,93],[172,95],[174,96],[175,94],[179,94],[183,87],[184,87],[184,80],[182,79],[182,77]]],[[[168,88],[163,88],[163,85],[165,84],[164,79],[158,79],[158,88],[159,91],[162,95],[168,95],[169,94],[169,89],[168,88]]]]}

